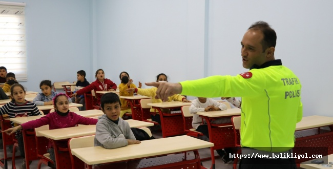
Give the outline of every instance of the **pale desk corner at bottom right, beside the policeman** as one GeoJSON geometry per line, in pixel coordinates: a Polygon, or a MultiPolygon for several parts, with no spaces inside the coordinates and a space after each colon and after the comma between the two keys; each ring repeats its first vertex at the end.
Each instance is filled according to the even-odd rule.
{"type": "Polygon", "coordinates": [[[305,169],[326,169],[326,168],[332,168],[333,167],[333,154],[330,154],[328,156],[325,156],[323,158],[318,159],[311,159],[305,162],[301,163],[301,167],[305,169]],[[311,161],[314,160],[323,160],[324,162],[321,164],[314,164],[311,163],[311,161]]]}

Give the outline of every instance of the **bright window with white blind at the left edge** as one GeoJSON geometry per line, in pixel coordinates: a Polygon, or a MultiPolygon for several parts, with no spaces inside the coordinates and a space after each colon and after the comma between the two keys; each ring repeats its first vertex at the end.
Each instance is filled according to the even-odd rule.
{"type": "Polygon", "coordinates": [[[0,2],[0,66],[26,81],[25,3],[0,2]]]}

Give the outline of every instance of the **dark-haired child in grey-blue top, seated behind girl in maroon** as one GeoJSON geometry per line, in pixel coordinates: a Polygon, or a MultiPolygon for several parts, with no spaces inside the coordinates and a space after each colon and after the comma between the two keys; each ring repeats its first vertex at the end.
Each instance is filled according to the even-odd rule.
{"type": "MultiPolygon", "coordinates": [[[[53,98],[59,94],[59,92],[53,92],[52,91],[52,83],[50,80],[43,80],[39,84],[39,88],[41,90],[41,93],[38,93],[37,96],[33,99],[33,102],[36,103],[36,105],[52,105],[53,104],[53,98]]],[[[68,101],[71,103],[72,99],[68,99],[68,101]]]]}

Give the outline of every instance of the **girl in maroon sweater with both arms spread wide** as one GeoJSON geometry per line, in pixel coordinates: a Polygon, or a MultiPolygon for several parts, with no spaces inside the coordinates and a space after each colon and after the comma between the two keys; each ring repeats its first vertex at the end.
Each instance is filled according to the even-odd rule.
{"type": "MultiPolygon", "coordinates": [[[[59,93],[53,98],[53,107],[55,112],[49,113],[39,119],[32,120],[14,128],[5,130],[8,135],[15,133],[17,130],[28,130],[39,128],[40,126],[49,124],[49,129],[62,129],[76,126],[77,124],[96,124],[97,119],[82,117],[74,112],[69,111],[68,96],[64,93],[59,93]]],[[[36,108],[37,109],[37,108],[36,108]]],[[[38,111],[39,112],[39,111],[38,111]]],[[[57,142],[60,147],[67,147],[68,140],[57,142]]],[[[50,158],[55,161],[55,154],[53,144],[49,141],[48,153],[50,158]]]]}

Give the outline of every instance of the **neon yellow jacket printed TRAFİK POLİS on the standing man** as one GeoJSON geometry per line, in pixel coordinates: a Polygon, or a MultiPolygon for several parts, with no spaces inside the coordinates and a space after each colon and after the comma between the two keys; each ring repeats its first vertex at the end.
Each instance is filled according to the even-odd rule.
{"type": "Polygon", "coordinates": [[[183,81],[182,95],[242,97],[241,145],[268,152],[294,147],[296,123],[302,119],[301,84],[284,66],[252,69],[237,76],[183,81]]]}

